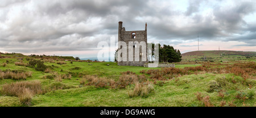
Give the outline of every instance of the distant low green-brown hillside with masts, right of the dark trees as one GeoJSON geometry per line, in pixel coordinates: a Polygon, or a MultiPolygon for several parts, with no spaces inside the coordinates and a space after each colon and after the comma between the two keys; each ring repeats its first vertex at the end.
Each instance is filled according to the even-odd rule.
{"type": "Polygon", "coordinates": [[[183,61],[255,60],[256,52],[202,50],[181,54],[183,61]]]}

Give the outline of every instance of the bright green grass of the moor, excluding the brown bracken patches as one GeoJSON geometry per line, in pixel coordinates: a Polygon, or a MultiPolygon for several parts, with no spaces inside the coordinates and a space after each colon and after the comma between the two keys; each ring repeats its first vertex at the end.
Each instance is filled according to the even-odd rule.
{"type": "MultiPolygon", "coordinates": [[[[242,75],[234,73],[219,74],[205,71],[191,71],[190,74],[170,74],[171,78],[162,75],[164,79],[153,79],[153,75],[143,74],[141,70],[160,69],[144,68],[136,66],[118,66],[115,62],[78,62],[78,61],[48,61],[46,58],[34,58],[28,56],[14,56],[1,54],[0,70],[20,70],[32,71],[31,77],[26,80],[14,80],[11,78],[0,79],[0,90],[4,85],[22,81],[39,81],[43,88],[55,85],[60,87],[43,94],[35,94],[30,100],[30,104],[24,104],[19,97],[13,95],[0,94],[0,106],[207,106],[209,102],[212,106],[255,106],[255,79],[246,79],[242,75]],[[26,58],[45,61],[44,64],[51,67],[51,73],[37,71],[30,66],[18,66],[15,62],[27,64],[26,58]],[[65,62],[60,65],[57,62],[65,62]],[[6,65],[5,65],[6,63],[6,65]],[[110,64],[107,66],[107,64],[110,64]],[[84,75],[96,75],[97,77],[113,79],[118,81],[122,72],[133,71],[137,75],[144,75],[148,82],[152,82],[154,91],[146,97],[130,97],[128,92],[133,91],[135,85],[130,84],[125,88],[97,87],[81,84],[84,75]],[[69,79],[62,79],[57,82],[54,78],[44,78],[47,75],[71,74],[69,79]],[[234,82],[235,81],[235,82],[234,82]],[[214,83],[215,82],[215,83],[214,83]],[[216,82],[220,87],[215,89],[216,82]],[[250,83],[250,84],[248,84],[250,83]],[[224,85],[223,85],[224,84],[224,85]],[[224,96],[220,96],[220,93],[224,96]],[[209,96],[209,99],[199,100],[196,93],[200,93],[201,98],[209,96]],[[237,97],[237,95],[240,95],[237,97]]],[[[254,63],[255,64],[255,63],[254,63]]],[[[176,65],[176,68],[195,67],[201,65],[176,65]]],[[[253,70],[255,71],[255,69],[253,70]]],[[[255,74],[250,76],[255,78],[255,74]]],[[[86,82],[85,82],[86,83],[86,82]]],[[[0,91],[1,92],[1,91],[0,91]]]]}

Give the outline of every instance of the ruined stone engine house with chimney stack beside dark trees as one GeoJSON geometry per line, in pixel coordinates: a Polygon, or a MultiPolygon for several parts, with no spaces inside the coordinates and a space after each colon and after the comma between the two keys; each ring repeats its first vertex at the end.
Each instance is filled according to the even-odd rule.
{"type": "Polygon", "coordinates": [[[127,45],[127,53],[121,53],[120,56],[122,58],[126,58],[127,61],[118,61],[118,65],[121,66],[144,66],[144,64],[148,63],[147,58],[147,23],[144,31],[125,31],[125,27],[122,27],[123,22],[119,22],[118,24],[118,50],[122,49],[122,45],[120,41],[123,41],[127,45]],[[133,52],[129,53],[129,43],[133,42],[133,52]],[[144,45],[142,45],[144,44],[144,45]],[[139,49],[136,52],[135,50],[139,49]],[[136,53],[135,53],[136,52],[136,53]],[[136,55],[137,54],[137,55],[136,55]],[[136,56],[135,56],[136,55],[136,56]],[[138,57],[139,55],[139,57],[138,57]],[[129,60],[129,56],[133,56],[133,59],[129,60]]]}

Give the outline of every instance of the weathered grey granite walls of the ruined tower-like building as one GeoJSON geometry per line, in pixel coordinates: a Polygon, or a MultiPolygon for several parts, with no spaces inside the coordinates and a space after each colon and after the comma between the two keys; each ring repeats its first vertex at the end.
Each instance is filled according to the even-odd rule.
{"type": "Polygon", "coordinates": [[[148,63],[147,59],[147,23],[144,31],[125,31],[125,27],[122,27],[123,22],[118,23],[118,50],[122,47],[119,44],[119,41],[123,41],[127,44],[127,61],[118,61],[118,65],[121,66],[144,66],[144,64],[148,63]],[[133,45],[133,61],[129,61],[129,41],[138,41],[141,43],[144,41],[146,43],[146,47],[142,48],[139,45],[133,45]],[[139,47],[139,61],[135,61],[135,48],[139,47]],[[142,49],[146,50],[146,53],[142,53],[142,49]],[[146,56],[146,61],[142,60],[146,56]]]}

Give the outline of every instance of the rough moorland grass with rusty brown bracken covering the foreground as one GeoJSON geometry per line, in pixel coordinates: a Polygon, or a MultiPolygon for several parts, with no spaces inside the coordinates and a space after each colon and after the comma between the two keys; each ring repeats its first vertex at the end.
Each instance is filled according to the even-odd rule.
{"type": "MultiPolygon", "coordinates": [[[[3,56],[0,64],[6,66],[0,66],[1,71],[23,70],[32,74],[26,81],[0,80],[1,90],[16,82],[39,81],[44,92],[34,94],[24,87],[20,97],[1,94],[0,106],[255,106],[255,63],[246,61],[160,69],[117,66],[115,62],[57,64],[43,59],[49,70],[38,71],[15,66],[15,56],[3,56]],[[196,93],[200,93],[201,100],[196,93]]],[[[40,60],[24,58],[30,58],[23,60],[24,64],[40,60]]]]}

